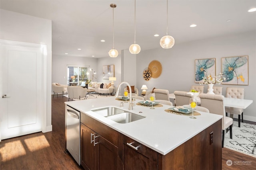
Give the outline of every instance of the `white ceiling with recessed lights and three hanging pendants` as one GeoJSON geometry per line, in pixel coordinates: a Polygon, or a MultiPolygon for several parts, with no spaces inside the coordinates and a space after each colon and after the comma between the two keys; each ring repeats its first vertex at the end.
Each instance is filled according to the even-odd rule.
{"type": "MultiPolygon", "coordinates": [[[[134,43],[134,0],[0,0],[0,8],[52,20],[53,56],[100,58],[108,57],[113,47],[112,3],[117,5],[114,48],[120,56],[134,43]]],[[[248,12],[251,8],[256,8],[256,0],[169,0],[168,33],[177,45],[255,31],[256,12],[248,12]]],[[[160,48],[166,12],[166,0],[136,0],[136,43],[142,51],[160,48]]]]}

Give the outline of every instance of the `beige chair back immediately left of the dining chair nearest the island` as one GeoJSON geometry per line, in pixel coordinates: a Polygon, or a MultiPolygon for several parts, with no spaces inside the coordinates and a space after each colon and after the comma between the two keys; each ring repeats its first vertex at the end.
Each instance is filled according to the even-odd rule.
{"type": "Polygon", "coordinates": [[[189,99],[194,98],[193,93],[184,91],[174,91],[176,106],[189,104],[189,99]]]}

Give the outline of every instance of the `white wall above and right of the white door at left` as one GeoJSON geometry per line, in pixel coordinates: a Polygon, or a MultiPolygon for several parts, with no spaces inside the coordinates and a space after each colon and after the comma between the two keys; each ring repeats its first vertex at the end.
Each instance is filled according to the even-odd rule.
{"type": "Polygon", "coordinates": [[[47,45],[46,126],[52,131],[52,21],[2,9],[0,21],[0,39],[47,45]]]}

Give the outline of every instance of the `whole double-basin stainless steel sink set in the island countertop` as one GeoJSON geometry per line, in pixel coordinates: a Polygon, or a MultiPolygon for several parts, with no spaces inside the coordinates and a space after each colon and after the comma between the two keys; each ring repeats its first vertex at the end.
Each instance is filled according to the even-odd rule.
{"type": "Polygon", "coordinates": [[[108,119],[111,119],[112,121],[115,121],[117,123],[130,123],[132,121],[145,118],[144,116],[137,115],[135,113],[131,113],[129,111],[125,111],[112,106],[103,107],[99,109],[92,109],[91,111],[99,115],[102,115],[108,119]]]}

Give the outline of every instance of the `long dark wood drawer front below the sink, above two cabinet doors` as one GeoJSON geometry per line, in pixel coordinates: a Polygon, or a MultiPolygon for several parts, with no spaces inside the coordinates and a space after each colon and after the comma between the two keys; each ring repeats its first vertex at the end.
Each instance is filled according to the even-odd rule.
{"type": "Polygon", "coordinates": [[[100,136],[104,137],[106,140],[110,141],[113,145],[118,145],[118,132],[114,129],[104,125],[103,123],[97,121],[96,119],[81,113],[81,123],[93,129],[100,136]]]}

